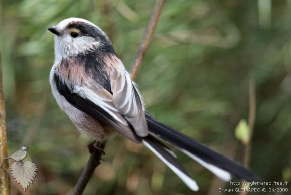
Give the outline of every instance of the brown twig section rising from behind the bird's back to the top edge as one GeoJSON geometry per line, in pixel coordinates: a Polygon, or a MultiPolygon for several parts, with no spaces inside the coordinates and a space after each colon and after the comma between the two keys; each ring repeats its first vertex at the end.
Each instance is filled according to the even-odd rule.
{"type": "Polygon", "coordinates": [[[142,60],[144,56],[146,55],[152,40],[153,40],[153,35],[156,31],[157,24],[159,21],[159,17],[161,15],[163,6],[165,4],[166,0],[157,0],[150,21],[148,23],[148,26],[146,28],[146,31],[144,31],[142,41],[139,45],[139,48],[135,54],[133,63],[130,68],[130,73],[131,73],[131,79],[134,81],[136,79],[136,76],[138,74],[138,71],[141,67],[142,60]]]}

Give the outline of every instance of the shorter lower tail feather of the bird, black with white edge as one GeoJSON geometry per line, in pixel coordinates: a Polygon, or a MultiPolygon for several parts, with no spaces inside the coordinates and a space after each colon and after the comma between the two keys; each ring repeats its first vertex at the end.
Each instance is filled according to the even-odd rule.
{"type": "Polygon", "coordinates": [[[162,144],[155,137],[148,135],[143,138],[143,143],[152,152],[154,152],[160,160],[162,160],[191,190],[198,191],[197,183],[188,175],[185,168],[173,155],[173,152],[162,144]]]}

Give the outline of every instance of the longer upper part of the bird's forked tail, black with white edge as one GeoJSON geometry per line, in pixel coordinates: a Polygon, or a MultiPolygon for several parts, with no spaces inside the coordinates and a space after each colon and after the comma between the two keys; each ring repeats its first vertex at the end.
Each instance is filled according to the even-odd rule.
{"type": "Polygon", "coordinates": [[[249,169],[162,124],[149,113],[146,113],[146,118],[149,131],[152,134],[176,146],[221,179],[229,181],[229,173],[232,173],[236,177],[243,178],[247,181],[258,180],[258,177],[249,169]]]}

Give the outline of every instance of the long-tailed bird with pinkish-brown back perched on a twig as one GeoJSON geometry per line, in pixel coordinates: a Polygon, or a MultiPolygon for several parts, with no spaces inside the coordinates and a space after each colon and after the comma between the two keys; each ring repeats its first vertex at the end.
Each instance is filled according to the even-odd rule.
{"type": "Polygon", "coordinates": [[[52,93],[80,133],[101,142],[118,133],[146,145],[193,191],[199,190],[197,182],[165,143],[224,181],[230,181],[231,174],[257,180],[251,170],[147,112],[137,85],[101,28],[82,18],[66,18],[48,30],[54,34],[52,93]]]}

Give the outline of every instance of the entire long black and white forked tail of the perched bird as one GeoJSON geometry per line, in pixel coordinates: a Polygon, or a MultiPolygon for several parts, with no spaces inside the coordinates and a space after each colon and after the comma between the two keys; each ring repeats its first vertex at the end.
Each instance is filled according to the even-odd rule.
{"type": "MultiPolygon", "coordinates": [[[[176,146],[190,158],[200,163],[217,177],[230,181],[231,174],[247,181],[258,180],[258,177],[249,169],[209,149],[192,138],[162,124],[146,113],[147,124],[151,134],[176,146]]],[[[182,181],[193,191],[199,188],[196,182],[187,174],[178,162],[172,151],[152,136],[143,139],[144,144],[151,149],[182,181]]]]}

